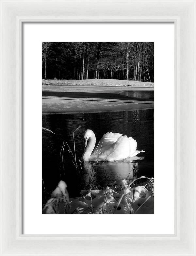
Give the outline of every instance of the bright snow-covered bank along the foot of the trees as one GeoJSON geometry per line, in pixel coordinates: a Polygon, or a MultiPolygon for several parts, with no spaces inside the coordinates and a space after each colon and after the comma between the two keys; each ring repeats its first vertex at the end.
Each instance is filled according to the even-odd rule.
{"type": "Polygon", "coordinates": [[[133,86],[133,87],[152,87],[154,83],[151,82],[138,82],[116,79],[88,79],[88,80],[44,80],[42,84],[58,84],[58,85],[79,85],[79,86],[133,86]]]}

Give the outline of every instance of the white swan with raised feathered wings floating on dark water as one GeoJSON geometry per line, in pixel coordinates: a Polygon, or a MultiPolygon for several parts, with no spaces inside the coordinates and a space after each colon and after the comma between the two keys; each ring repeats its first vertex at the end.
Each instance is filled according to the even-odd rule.
{"type": "Polygon", "coordinates": [[[120,133],[107,132],[95,146],[96,138],[92,130],[84,132],[85,150],[82,161],[114,161],[134,157],[143,150],[137,149],[137,142],[133,138],[120,133]]]}

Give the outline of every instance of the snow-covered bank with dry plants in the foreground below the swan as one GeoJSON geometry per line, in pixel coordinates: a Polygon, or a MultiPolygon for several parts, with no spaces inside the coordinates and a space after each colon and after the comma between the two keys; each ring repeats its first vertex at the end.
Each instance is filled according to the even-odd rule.
{"type": "Polygon", "coordinates": [[[45,204],[43,213],[153,214],[154,180],[148,180],[146,186],[136,187],[131,187],[131,183],[128,185],[125,179],[118,180],[111,187],[82,190],[80,197],[70,199],[67,185],[61,180],[45,204]]]}

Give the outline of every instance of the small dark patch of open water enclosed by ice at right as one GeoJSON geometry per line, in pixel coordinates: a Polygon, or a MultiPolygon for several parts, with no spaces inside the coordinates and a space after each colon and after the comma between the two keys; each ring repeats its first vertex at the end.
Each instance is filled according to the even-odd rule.
{"type": "Polygon", "coordinates": [[[154,91],[124,91],[120,94],[132,99],[154,101],[154,91]]]}

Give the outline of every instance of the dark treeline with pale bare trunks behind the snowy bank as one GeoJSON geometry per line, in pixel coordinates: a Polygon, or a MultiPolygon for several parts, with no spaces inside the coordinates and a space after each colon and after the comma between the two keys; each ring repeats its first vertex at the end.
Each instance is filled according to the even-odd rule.
{"type": "Polygon", "coordinates": [[[154,82],[154,43],[42,43],[42,78],[154,82]]]}

